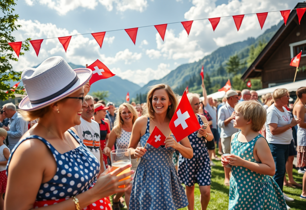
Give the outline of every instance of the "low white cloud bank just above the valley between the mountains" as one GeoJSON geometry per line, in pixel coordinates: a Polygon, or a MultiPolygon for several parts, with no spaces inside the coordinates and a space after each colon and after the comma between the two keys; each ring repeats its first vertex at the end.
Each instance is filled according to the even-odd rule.
{"type": "Polygon", "coordinates": [[[146,68],[145,70],[127,70],[122,72],[119,68],[113,68],[111,71],[122,79],[127,79],[136,84],[147,84],[154,79],[161,79],[170,73],[170,64],[160,63],[157,70],[146,68]]]}

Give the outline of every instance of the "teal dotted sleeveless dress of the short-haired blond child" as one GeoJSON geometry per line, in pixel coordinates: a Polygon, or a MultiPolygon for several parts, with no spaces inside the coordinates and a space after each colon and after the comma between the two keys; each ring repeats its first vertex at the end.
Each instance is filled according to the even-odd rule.
{"type": "MultiPolygon", "coordinates": [[[[238,133],[231,142],[231,154],[238,155],[244,160],[257,162],[253,156],[253,149],[257,139],[263,136],[258,135],[246,143],[239,142],[237,136],[238,133]]],[[[287,209],[283,193],[273,178],[241,166],[232,167],[229,197],[229,209],[287,209]]]]}

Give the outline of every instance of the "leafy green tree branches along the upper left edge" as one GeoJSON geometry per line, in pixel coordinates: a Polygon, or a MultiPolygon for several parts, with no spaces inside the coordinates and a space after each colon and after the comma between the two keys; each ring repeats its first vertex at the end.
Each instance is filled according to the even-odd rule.
{"type": "MultiPolygon", "coordinates": [[[[14,0],[1,0],[0,10],[2,15],[0,16],[0,99],[7,100],[9,97],[14,98],[14,93],[23,94],[21,90],[23,87],[17,87],[16,91],[11,91],[9,82],[20,81],[21,72],[13,71],[13,67],[10,61],[18,61],[15,52],[8,44],[8,42],[15,42],[15,38],[12,36],[12,32],[16,31],[21,25],[17,25],[18,14],[14,14],[14,8],[16,3],[14,0]],[[9,91],[6,94],[6,91],[9,91]]],[[[30,40],[30,39],[27,39],[30,40]]],[[[23,51],[29,50],[29,43],[23,42],[21,49],[23,51]]],[[[20,52],[20,55],[24,55],[24,52],[20,52]]],[[[13,84],[14,85],[14,84],[13,84]]]]}

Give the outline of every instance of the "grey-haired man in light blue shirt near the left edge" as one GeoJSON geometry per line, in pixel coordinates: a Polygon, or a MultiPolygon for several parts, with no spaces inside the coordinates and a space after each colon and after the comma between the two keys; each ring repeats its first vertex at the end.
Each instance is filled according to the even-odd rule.
{"type": "Polygon", "coordinates": [[[8,103],[3,106],[3,114],[10,121],[9,127],[3,126],[3,128],[7,131],[9,149],[12,151],[21,136],[28,131],[28,123],[16,111],[16,106],[13,103],[8,103]]]}

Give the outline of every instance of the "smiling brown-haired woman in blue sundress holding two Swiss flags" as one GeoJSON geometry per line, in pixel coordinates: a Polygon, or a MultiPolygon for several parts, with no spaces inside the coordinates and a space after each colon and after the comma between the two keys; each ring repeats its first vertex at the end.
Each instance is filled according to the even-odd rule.
{"type": "Polygon", "coordinates": [[[174,210],[188,205],[172,163],[172,154],[178,150],[183,157],[192,158],[192,147],[188,137],[177,143],[172,135],[168,136],[176,108],[177,98],[169,86],[155,85],[148,92],[148,113],[134,123],[129,144],[131,157],[141,157],[134,176],[129,210],[174,210]],[[167,136],[166,141],[159,148],[147,144],[144,149],[155,126],[167,136]],[[141,147],[138,147],[139,142],[141,147]]]}

